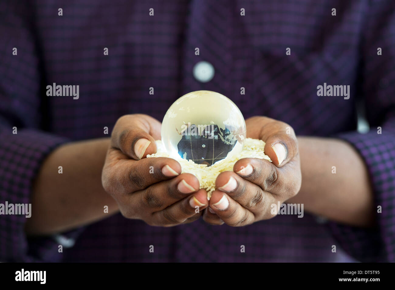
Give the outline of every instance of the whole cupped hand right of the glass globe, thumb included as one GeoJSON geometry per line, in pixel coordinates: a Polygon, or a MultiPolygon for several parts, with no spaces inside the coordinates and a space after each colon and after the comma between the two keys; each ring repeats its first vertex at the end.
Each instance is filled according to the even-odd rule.
{"type": "Polygon", "coordinates": [[[271,204],[295,196],[302,174],[298,143],[292,127],[271,118],[256,116],[246,120],[247,137],[261,139],[265,154],[273,162],[258,158],[237,161],[232,171],[218,175],[216,189],[203,220],[212,225],[245,226],[271,219],[271,204]]]}

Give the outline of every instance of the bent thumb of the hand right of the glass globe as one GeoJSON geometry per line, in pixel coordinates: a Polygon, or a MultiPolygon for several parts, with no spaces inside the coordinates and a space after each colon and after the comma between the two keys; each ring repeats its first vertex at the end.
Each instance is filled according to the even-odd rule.
{"type": "Polygon", "coordinates": [[[297,138],[293,128],[287,123],[267,117],[253,117],[249,118],[246,124],[247,127],[252,128],[250,136],[259,138],[266,143],[265,154],[277,167],[284,166],[297,155],[297,138]]]}

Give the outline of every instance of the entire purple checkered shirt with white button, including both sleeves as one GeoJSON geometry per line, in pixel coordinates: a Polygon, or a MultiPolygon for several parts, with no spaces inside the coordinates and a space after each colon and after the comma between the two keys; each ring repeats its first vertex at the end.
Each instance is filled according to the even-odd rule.
{"type": "Polygon", "coordinates": [[[211,90],[245,118],[269,116],[298,135],[350,142],[382,207],[371,229],[307,213],[239,228],[202,219],[152,227],[117,214],[40,238],[26,237],[24,215],[0,215],[0,261],[395,262],[393,0],[2,1],[0,35],[0,203],[30,202],[32,182],[56,146],[106,137],[103,127],[111,132],[124,114],[162,120],[181,95],[211,90]],[[203,60],[215,70],[205,83],[192,73],[203,60]],[[53,83],[79,85],[79,99],[47,96],[53,83]],[[350,85],[350,99],[318,96],[324,83],[350,85]],[[356,131],[361,107],[366,134],[356,131]],[[58,253],[59,243],[70,247],[58,253]]]}

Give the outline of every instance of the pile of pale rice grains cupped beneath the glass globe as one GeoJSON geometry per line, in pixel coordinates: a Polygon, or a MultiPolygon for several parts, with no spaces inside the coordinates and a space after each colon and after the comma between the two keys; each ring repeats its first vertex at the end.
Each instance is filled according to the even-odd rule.
{"type": "MultiPolygon", "coordinates": [[[[156,146],[158,148],[157,152],[151,155],[147,155],[147,157],[170,157],[167,154],[166,150],[163,148],[162,141],[157,140],[156,146]]],[[[208,167],[205,164],[196,164],[192,160],[185,160],[181,157],[173,158],[177,160],[181,165],[182,173],[190,173],[194,174],[200,183],[200,188],[203,188],[207,191],[207,199],[210,200],[211,193],[215,189],[215,180],[223,171],[233,171],[233,165],[242,158],[252,157],[259,159],[270,160],[269,156],[264,153],[265,142],[258,139],[246,138],[243,144],[243,150],[240,152],[238,156],[234,156],[233,158],[222,159],[214,165],[208,167]]]]}

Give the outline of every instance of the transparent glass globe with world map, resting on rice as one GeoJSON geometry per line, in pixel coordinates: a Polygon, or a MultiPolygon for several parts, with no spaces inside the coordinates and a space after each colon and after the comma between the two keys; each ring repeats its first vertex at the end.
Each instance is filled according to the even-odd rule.
{"type": "Polygon", "coordinates": [[[170,106],[161,135],[170,156],[211,166],[241,152],[246,124],[239,108],[224,95],[196,91],[170,106]]]}

